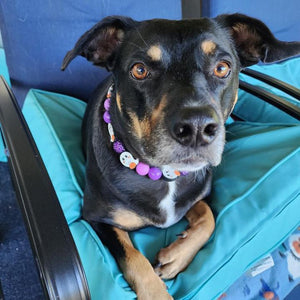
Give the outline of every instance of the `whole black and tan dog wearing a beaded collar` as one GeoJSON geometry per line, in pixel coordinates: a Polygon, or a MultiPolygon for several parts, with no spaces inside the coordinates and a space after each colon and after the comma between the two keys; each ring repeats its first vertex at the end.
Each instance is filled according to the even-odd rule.
{"type": "Polygon", "coordinates": [[[138,298],[171,299],[161,278],[184,270],[214,230],[203,199],[211,167],[221,161],[240,69],[299,52],[299,43],[280,42],[262,22],[235,14],[143,22],[108,17],[67,53],[62,69],[82,55],[112,72],[84,118],[83,217],[138,298]],[[128,231],[165,228],[184,216],[189,227],[152,267],[128,231]]]}

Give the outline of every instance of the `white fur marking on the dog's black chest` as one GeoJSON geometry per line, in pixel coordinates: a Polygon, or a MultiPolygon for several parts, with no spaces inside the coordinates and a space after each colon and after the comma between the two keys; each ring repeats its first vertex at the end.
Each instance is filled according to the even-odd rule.
{"type": "Polygon", "coordinates": [[[168,194],[162,199],[159,204],[159,208],[162,213],[166,214],[166,222],[161,224],[160,227],[165,228],[173,225],[178,221],[178,216],[175,212],[175,196],[176,196],[176,182],[168,182],[169,191],[168,194]]]}

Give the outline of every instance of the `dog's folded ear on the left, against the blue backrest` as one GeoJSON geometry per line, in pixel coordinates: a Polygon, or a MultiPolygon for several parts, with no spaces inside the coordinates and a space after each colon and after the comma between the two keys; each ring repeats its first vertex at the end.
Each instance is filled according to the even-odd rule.
{"type": "Polygon", "coordinates": [[[64,71],[77,55],[97,66],[110,69],[113,56],[126,31],[136,24],[136,21],[127,17],[112,16],[103,19],[80,37],[74,48],[66,54],[61,69],[64,71]]]}

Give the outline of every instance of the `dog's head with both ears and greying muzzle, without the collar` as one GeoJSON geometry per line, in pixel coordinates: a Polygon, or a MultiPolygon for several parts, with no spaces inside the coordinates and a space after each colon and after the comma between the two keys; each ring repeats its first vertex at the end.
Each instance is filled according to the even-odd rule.
{"type": "Polygon", "coordinates": [[[82,55],[110,70],[112,124],[126,148],[150,165],[194,171],[221,161],[240,69],[298,53],[300,43],[280,42],[261,21],[240,14],[108,17],[78,40],[62,69],[82,55]]]}

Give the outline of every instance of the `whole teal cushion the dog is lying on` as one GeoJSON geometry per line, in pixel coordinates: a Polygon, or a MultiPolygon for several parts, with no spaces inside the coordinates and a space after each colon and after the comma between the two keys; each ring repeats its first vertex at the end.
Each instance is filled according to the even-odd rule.
{"type": "MultiPolygon", "coordinates": [[[[81,219],[84,110],[77,99],[31,90],[23,113],[78,247],[92,299],[133,299],[115,260],[81,219]]],[[[166,282],[175,299],[218,297],[300,224],[299,124],[233,122],[227,132],[213,183],[216,230],[191,265],[166,282]]],[[[148,227],[131,238],[153,261],[186,225],[183,219],[168,229],[148,227]]]]}

